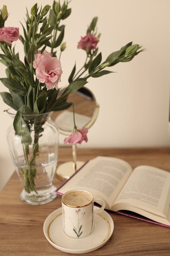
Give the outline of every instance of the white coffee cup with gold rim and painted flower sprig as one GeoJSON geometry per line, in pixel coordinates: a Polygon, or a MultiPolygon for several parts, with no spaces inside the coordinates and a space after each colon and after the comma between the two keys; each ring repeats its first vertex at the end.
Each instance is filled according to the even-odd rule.
{"type": "Polygon", "coordinates": [[[102,198],[84,189],[69,190],[62,196],[63,230],[71,238],[89,236],[93,227],[94,213],[105,208],[102,198]],[[102,207],[94,210],[94,202],[102,202],[102,207]]]}

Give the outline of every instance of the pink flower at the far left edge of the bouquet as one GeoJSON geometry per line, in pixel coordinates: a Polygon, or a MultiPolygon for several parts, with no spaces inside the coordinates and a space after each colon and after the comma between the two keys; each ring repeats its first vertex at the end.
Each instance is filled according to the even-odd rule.
{"type": "Polygon", "coordinates": [[[0,41],[12,44],[12,42],[21,40],[19,35],[19,28],[3,27],[0,28],[0,41]]]}

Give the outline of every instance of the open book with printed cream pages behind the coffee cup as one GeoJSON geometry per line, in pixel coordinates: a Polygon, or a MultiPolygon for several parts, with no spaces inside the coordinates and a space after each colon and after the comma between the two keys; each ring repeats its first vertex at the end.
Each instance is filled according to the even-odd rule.
{"type": "Polygon", "coordinates": [[[89,190],[105,200],[105,209],[170,227],[170,172],[151,166],[134,170],[113,157],[88,161],[57,190],[89,190]]]}

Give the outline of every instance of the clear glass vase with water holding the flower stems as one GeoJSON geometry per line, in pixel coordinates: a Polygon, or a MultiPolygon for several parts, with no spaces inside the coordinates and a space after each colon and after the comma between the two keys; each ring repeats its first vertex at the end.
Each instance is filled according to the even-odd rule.
{"type": "MultiPolygon", "coordinates": [[[[15,118],[14,113],[7,112],[15,118]]],[[[13,125],[6,133],[15,169],[24,185],[20,198],[28,204],[44,204],[56,197],[52,181],[58,160],[59,132],[50,119],[51,114],[22,115],[21,133],[16,134],[13,125]]]]}

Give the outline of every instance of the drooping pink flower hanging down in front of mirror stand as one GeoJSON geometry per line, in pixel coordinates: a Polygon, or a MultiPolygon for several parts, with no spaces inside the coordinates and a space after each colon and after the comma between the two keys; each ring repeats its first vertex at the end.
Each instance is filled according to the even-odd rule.
{"type": "Polygon", "coordinates": [[[83,140],[87,142],[87,132],[88,129],[86,127],[84,127],[83,129],[79,129],[77,132],[73,132],[69,137],[65,138],[64,143],[66,144],[68,142],[71,145],[74,145],[75,143],[81,144],[83,140]]]}

